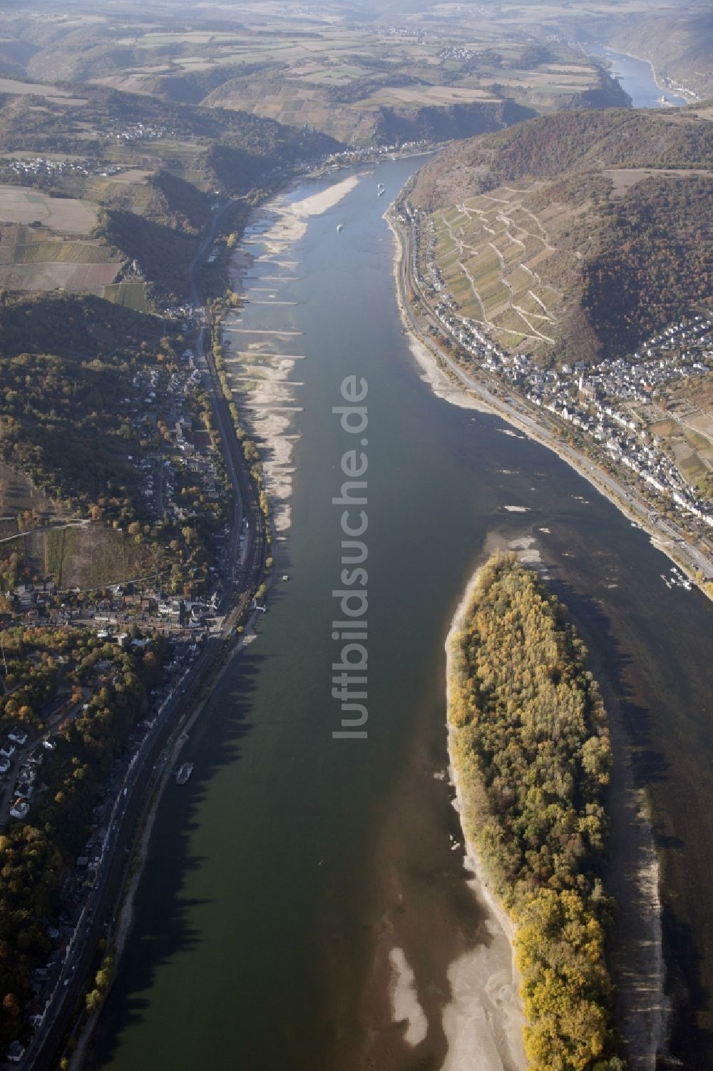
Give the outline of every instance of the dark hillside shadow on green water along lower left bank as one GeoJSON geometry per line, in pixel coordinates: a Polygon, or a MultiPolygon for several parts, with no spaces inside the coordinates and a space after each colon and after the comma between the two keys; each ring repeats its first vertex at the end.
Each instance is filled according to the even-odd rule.
{"type": "Polygon", "coordinates": [[[189,731],[184,750],[191,749],[195,759],[191,778],[185,785],[169,782],[162,796],[135,896],[135,914],[151,919],[151,926],[128,933],[121,970],[111,992],[111,1022],[105,1022],[105,1013],[100,1016],[84,1065],[88,1069],[111,1061],[121,1046],[123,1031],[142,1022],[149,1000],[141,994],[151,991],[161,967],[177,953],[195,949],[201,941],[191,920],[208,901],[182,895],[181,891],[186,877],[199,871],[204,862],[203,857],[191,855],[191,833],[199,828],[198,814],[208,785],[219,769],[242,758],[241,743],[253,728],[252,696],[262,661],[260,654],[249,650],[239,657],[230,703],[213,698],[189,731]],[[154,856],[157,841],[161,853],[154,856]],[[151,879],[158,858],[161,883],[151,879]],[[170,890],[168,896],[167,890],[170,890]]]}

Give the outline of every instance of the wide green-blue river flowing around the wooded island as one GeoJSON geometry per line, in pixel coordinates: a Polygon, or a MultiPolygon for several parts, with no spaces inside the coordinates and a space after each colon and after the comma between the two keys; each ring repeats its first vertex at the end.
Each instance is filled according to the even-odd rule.
{"type": "MultiPolygon", "coordinates": [[[[449,966],[490,941],[449,840],[443,644],[477,563],[515,540],[533,541],[619,697],[656,806],[670,984],[685,1001],[674,1046],[703,1052],[692,1024],[713,983],[713,605],[665,586],[670,562],[553,453],[422,381],[382,218],[416,166],[359,172],[289,253],[256,260],[244,281],[245,345],[264,337],[249,329],[280,329],[295,332],[280,351],[304,357],[289,374],[291,527],[257,638],[183,752],[193,775],[158,809],[94,1067],[442,1066],[449,966]],[[368,383],[368,737],[333,739],[343,537],[332,498],[352,443],[332,409],[352,375],[368,383]],[[394,945],[427,1016],[414,1049],[391,1025],[394,945]]],[[[344,177],[301,182],[287,200],[344,177]]],[[[252,227],[253,253],[269,225],[262,213],[252,227]]]]}

